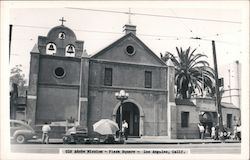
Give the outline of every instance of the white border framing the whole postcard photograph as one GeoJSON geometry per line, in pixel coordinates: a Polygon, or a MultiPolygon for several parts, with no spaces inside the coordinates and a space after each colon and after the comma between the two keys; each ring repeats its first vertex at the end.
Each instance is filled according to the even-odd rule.
{"type": "MultiPolygon", "coordinates": [[[[125,7],[125,6],[133,6],[138,8],[148,7],[148,8],[164,8],[164,7],[174,7],[178,4],[180,8],[191,8],[191,7],[200,7],[200,8],[239,8],[242,9],[244,14],[244,32],[247,33],[243,39],[245,40],[245,44],[243,46],[243,50],[246,53],[249,53],[249,1],[119,1],[119,2],[105,2],[105,1],[92,1],[92,2],[81,2],[81,1],[1,1],[1,157],[0,159],[83,159],[82,156],[79,155],[57,155],[57,154],[14,154],[10,153],[10,145],[8,132],[8,117],[9,117],[9,60],[8,60],[8,33],[9,33],[9,9],[10,8],[59,8],[64,6],[78,7],[79,4],[88,6],[89,8],[98,7],[125,7]],[[45,156],[46,155],[46,156],[45,156]]],[[[175,155],[173,156],[156,156],[156,155],[140,155],[140,156],[129,156],[129,155],[121,155],[119,159],[194,159],[200,160],[202,159],[248,159],[249,158],[249,57],[245,58],[245,62],[242,63],[242,82],[244,82],[244,87],[242,87],[242,126],[243,126],[243,137],[244,141],[242,141],[242,154],[233,155],[233,154],[219,154],[218,155],[175,155]]],[[[243,83],[242,83],[243,84],[243,83]]],[[[118,159],[116,155],[88,155],[84,156],[84,159],[118,159]]]]}

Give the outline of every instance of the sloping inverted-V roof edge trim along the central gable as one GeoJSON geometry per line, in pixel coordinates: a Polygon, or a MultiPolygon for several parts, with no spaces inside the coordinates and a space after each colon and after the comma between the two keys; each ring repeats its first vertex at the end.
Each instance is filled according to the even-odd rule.
{"type": "Polygon", "coordinates": [[[97,52],[96,54],[94,54],[93,56],[91,56],[90,58],[98,58],[99,56],[101,56],[102,54],[104,54],[106,51],[110,50],[111,48],[113,48],[114,46],[116,46],[117,44],[119,44],[120,42],[122,42],[123,40],[127,39],[128,37],[132,37],[135,39],[135,41],[139,42],[139,44],[152,56],[154,57],[154,59],[156,59],[161,65],[166,66],[166,63],[164,61],[162,61],[150,48],[148,48],[148,46],[146,44],[144,44],[136,35],[134,35],[132,32],[122,36],[121,38],[119,38],[118,40],[116,40],[115,42],[111,43],[110,45],[108,45],[107,47],[103,48],[101,51],[97,52]]]}

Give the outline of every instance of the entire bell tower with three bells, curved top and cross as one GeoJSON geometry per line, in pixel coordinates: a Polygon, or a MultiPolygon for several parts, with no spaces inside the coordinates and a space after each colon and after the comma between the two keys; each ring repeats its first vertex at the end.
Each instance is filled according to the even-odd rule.
{"type": "Polygon", "coordinates": [[[64,25],[38,36],[30,60],[27,119],[63,127],[68,120],[87,127],[89,58],[83,41],[64,25]]]}

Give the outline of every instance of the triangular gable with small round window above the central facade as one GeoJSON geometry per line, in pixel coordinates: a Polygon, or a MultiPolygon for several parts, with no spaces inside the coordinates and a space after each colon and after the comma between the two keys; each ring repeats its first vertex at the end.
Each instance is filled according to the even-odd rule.
{"type": "Polygon", "coordinates": [[[132,32],[116,40],[91,58],[124,63],[166,66],[166,64],[132,32]]]}

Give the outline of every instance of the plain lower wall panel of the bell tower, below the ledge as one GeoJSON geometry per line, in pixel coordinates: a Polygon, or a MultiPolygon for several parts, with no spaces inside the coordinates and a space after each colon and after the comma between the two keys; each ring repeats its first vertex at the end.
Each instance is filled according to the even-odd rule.
{"type": "Polygon", "coordinates": [[[40,86],[36,109],[36,124],[45,121],[77,119],[78,88],[40,86]]]}

